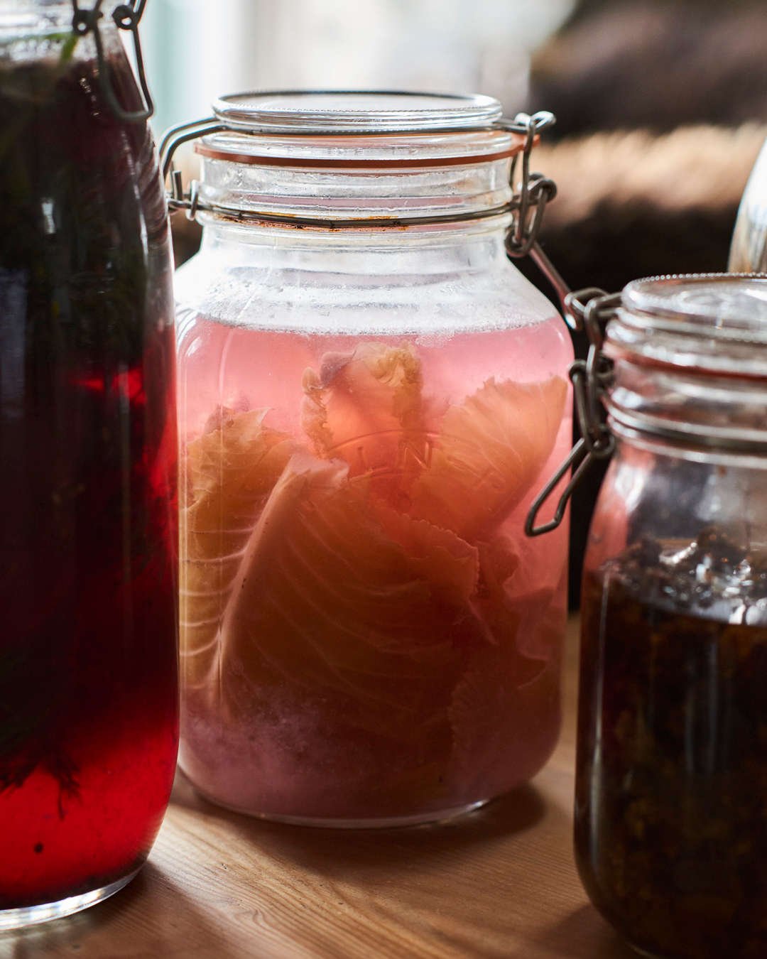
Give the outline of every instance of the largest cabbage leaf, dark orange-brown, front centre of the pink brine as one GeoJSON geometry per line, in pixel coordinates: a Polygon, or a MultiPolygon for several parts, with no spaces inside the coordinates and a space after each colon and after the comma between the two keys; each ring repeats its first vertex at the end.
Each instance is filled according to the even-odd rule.
{"type": "Polygon", "coordinates": [[[467,650],[476,550],[393,511],[342,460],[293,456],[256,525],[222,625],[230,718],[268,690],[328,697],[361,729],[417,741],[443,727],[467,650]],[[403,543],[406,546],[403,546],[403,543]]]}

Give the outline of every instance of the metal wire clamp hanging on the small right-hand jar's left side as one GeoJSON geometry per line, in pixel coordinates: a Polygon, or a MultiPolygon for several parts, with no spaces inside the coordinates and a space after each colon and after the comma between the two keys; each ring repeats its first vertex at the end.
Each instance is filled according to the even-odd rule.
{"type": "Polygon", "coordinates": [[[575,487],[588,473],[593,462],[613,455],[616,445],[615,437],[610,432],[602,414],[602,396],[613,382],[613,361],[602,352],[602,343],[605,326],[616,316],[617,307],[620,304],[620,293],[606,293],[590,287],[587,290],[569,293],[566,296],[566,304],[569,313],[581,318],[590,343],[588,358],[576,360],[569,367],[581,438],[530,507],[524,524],[524,532],[527,536],[540,536],[542,533],[556,529],[562,523],[565,509],[575,487]],[[572,469],[573,473],[557,503],[554,518],[548,523],[536,526],[535,521],[542,506],[569,469],[572,469]]]}

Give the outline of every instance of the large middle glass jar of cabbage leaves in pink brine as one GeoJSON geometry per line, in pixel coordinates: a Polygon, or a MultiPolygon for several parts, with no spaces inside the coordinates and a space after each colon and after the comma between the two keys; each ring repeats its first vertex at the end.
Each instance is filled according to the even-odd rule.
{"type": "Polygon", "coordinates": [[[523,518],[571,349],[504,250],[520,138],[490,98],[216,111],[175,287],[181,767],[288,821],[475,807],[560,722],[567,533],[523,518]]]}

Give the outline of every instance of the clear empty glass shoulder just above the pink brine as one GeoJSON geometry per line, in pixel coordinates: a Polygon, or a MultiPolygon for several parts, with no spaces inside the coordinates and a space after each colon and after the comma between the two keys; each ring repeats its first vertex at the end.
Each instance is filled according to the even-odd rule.
{"type": "MultiPolygon", "coordinates": [[[[309,259],[309,258],[308,258],[309,259]]],[[[373,253],[299,262],[247,262],[200,250],[175,272],[179,311],[267,330],[391,334],[501,330],[556,310],[505,257],[479,265],[373,253]]]]}

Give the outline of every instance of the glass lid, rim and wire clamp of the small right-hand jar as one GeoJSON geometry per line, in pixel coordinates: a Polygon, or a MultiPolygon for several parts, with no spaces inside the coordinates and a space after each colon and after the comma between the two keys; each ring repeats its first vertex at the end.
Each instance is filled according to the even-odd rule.
{"type": "Polygon", "coordinates": [[[629,283],[619,306],[617,293],[584,293],[591,350],[570,367],[582,436],[533,503],[528,536],[559,526],[573,489],[594,459],[612,455],[616,436],[702,462],[767,461],[767,274],[652,276],[629,283]],[[536,526],[570,468],[554,519],[536,526]]]}

